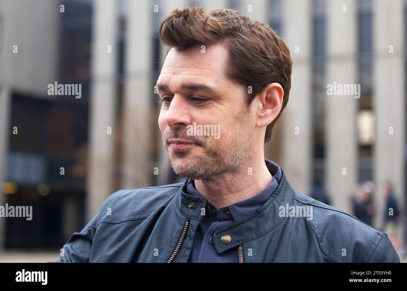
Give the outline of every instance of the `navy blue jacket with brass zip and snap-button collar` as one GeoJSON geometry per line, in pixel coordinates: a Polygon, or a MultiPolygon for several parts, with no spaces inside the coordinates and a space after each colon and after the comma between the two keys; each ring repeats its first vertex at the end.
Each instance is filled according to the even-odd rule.
{"type": "MultiPolygon", "coordinates": [[[[186,194],[185,187],[113,193],[63,246],[57,262],[187,262],[206,200],[186,194]]],[[[284,172],[263,206],[214,232],[213,242],[219,254],[236,248],[244,263],[400,262],[384,232],[294,191],[284,172]]]]}

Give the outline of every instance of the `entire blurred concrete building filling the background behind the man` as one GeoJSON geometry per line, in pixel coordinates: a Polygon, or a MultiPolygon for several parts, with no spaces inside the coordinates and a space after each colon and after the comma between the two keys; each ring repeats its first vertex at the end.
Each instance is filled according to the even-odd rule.
{"type": "MultiPolygon", "coordinates": [[[[407,1],[3,1],[0,205],[33,205],[34,218],[0,218],[2,245],[59,248],[114,191],[182,180],[162,146],[153,87],[160,22],[193,4],[236,9],[287,42],[290,100],[265,150],[294,189],[320,184],[352,213],[358,183],[380,190],[390,180],[405,208],[407,1]],[[81,98],[49,96],[55,82],[81,84],[81,98]],[[360,84],[360,98],[327,95],[328,84],[360,84]]],[[[383,208],[379,191],[375,201],[383,208]]]]}

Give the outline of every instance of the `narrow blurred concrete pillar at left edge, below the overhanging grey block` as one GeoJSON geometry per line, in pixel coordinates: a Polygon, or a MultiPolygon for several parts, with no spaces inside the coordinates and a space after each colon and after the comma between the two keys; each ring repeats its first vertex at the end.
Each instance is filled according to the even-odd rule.
{"type": "MultiPolygon", "coordinates": [[[[11,119],[11,91],[0,84],[0,205],[5,205],[6,197],[2,191],[2,183],[7,173],[7,152],[9,149],[9,132],[11,119]]],[[[6,218],[0,217],[0,252],[4,248],[6,236],[6,218]]]]}

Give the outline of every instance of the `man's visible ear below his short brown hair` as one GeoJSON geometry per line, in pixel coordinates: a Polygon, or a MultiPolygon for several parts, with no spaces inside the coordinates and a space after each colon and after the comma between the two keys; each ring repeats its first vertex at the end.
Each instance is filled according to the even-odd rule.
{"type": "Polygon", "coordinates": [[[258,94],[258,111],[256,126],[262,128],[269,125],[280,113],[284,90],[279,83],[271,83],[258,94]]]}

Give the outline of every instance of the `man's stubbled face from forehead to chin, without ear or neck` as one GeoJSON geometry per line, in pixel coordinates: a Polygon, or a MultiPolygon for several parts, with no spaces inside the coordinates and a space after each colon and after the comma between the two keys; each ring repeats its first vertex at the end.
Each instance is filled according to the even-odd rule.
{"type": "Polygon", "coordinates": [[[164,61],[157,82],[162,98],[158,124],[174,172],[181,176],[215,180],[239,169],[253,154],[254,114],[245,88],[225,76],[227,57],[227,49],[215,45],[205,53],[201,48],[171,49],[164,61]],[[195,123],[197,129],[220,129],[220,137],[219,132],[217,137],[194,135],[190,127],[195,123]]]}

